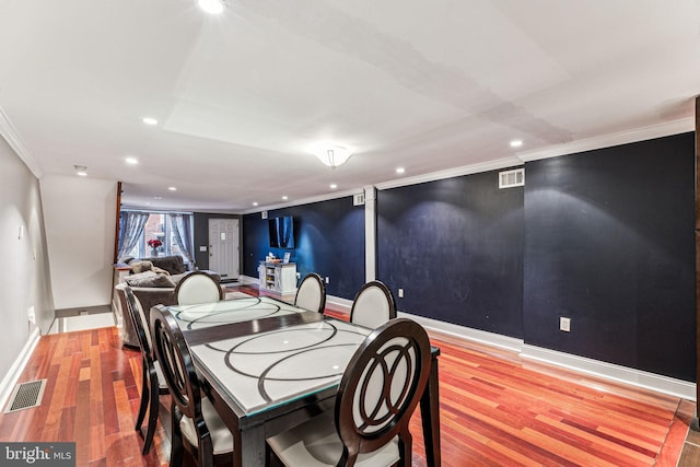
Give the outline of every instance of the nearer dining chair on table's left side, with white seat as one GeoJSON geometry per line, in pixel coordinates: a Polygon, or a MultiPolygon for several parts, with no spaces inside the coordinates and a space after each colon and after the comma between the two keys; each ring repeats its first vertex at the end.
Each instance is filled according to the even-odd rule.
{"type": "Polygon", "coordinates": [[[162,306],[151,311],[155,354],[172,399],[171,466],[182,466],[184,451],[198,466],[233,464],[233,434],[201,386],[189,347],[175,317],[162,306]]]}

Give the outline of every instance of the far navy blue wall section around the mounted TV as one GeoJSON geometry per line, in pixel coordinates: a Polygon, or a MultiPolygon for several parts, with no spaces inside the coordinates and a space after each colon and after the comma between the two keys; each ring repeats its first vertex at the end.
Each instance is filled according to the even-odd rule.
{"type": "Polygon", "coordinates": [[[308,272],[328,277],[329,295],[351,300],[364,283],[364,207],[352,206],[352,197],[268,211],[268,218],[294,218],[293,249],[270,248],[267,220],[260,213],[243,218],[244,271],[258,276],[258,262],[268,253],[292,254],[303,278],[308,272]]]}

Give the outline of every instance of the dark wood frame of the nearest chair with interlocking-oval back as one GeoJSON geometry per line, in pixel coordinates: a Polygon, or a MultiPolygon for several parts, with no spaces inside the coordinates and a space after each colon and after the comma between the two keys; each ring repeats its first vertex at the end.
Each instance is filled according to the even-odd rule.
{"type": "MultiPolygon", "coordinates": [[[[400,359],[399,359],[400,360],[400,359]]],[[[394,362],[396,365],[397,361],[394,362]]],[[[342,375],[335,405],[336,431],[342,441],[343,448],[340,459],[336,466],[353,466],[358,455],[371,453],[386,445],[399,436],[399,463],[400,466],[409,466],[412,460],[412,437],[409,431],[411,415],[419,404],[431,371],[431,348],[425,330],[416,322],[406,318],[392,319],[375,329],[363,343],[358,348],[348,367],[342,375]],[[395,338],[407,340],[406,346],[390,345],[384,348],[387,342],[395,338]],[[353,404],[354,397],[360,392],[360,397],[366,394],[368,381],[365,370],[381,369],[384,373],[385,382],[390,383],[390,372],[393,367],[387,366],[384,359],[389,352],[400,352],[406,355],[409,349],[413,349],[413,377],[406,380],[397,405],[392,405],[389,400],[389,388],[385,384],[383,390],[383,401],[389,404],[389,413],[377,416],[373,413],[362,413],[362,424],[358,427],[354,420],[353,404]],[[369,431],[368,428],[381,428],[376,431],[369,431]]],[[[267,446],[269,465],[280,465],[280,460],[275,456],[270,446],[267,446]]]]}

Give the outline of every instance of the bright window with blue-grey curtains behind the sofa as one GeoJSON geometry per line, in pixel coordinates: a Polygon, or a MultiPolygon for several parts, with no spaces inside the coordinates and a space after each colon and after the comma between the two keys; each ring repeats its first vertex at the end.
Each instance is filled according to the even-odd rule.
{"type": "Polygon", "coordinates": [[[192,252],[192,214],[164,212],[149,212],[148,214],[148,220],[136,244],[125,256],[148,258],[178,255],[183,257],[186,264],[191,262],[191,254],[183,250],[183,246],[185,249],[192,252]],[[186,231],[179,235],[175,225],[178,222],[178,218],[183,221],[182,227],[186,231]]]}

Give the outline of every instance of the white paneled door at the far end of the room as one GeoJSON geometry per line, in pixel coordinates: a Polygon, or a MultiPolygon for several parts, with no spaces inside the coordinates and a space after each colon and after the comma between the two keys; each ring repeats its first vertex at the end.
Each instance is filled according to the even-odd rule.
{"type": "Polygon", "coordinates": [[[209,269],[222,281],[237,280],[240,275],[238,220],[209,220],[209,269]]]}

